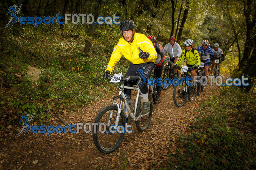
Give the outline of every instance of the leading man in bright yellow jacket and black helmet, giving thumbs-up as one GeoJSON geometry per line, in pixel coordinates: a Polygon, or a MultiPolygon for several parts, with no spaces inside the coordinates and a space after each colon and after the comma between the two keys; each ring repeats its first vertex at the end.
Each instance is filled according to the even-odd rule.
{"type": "MultiPolygon", "coordinates": [[[[125,20],[120,24],[123,37],[119,39],[110,56],[107,69],[103,73],[103,78],[108,78],[122,55],[130,61],[130,66],[125,76],[136,76],[137,71],[140,70],[141,76],[149,78],[157,58],[156,49],[146,35],[135,33],[134,27],[135,24],[132,20],[125,20]]],[[[132,86],[136,83],[137,81],[132,81],[126,85],[132,86]]],[[[144,115],[149,112],[148,85],[147,83],[141,83],[139,87],[143,97],[141,115],[144,115]]],[[[125,89],[124,93],[131,97],[131,90],[125,89]]]]}

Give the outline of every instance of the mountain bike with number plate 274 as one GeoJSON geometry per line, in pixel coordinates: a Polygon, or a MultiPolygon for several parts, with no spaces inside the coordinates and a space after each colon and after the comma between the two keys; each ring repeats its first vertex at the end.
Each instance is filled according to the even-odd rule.
{"type": "MultiPolygon", "coordinates": [[[[187,96],[188,96],[188,101],[192,101],[194,99],[196,94],[196,87],[194,87],[193,85],[189,86],[185,83],[186,76],[188,76],[188,78],[192,78],[191,80],[188,81],[188,84],[191,84],[193,82],[193,77],[191,74],[191,70],[193,69],[193,67],[177,66],[177,68],[179,70],[181,69],[180,72],[184,72],[184,73],[181,74],[179,85],[173,87],[173,102],[176,107],[182,107],[185,104],[187,96]],[[181,85],[181,82],[182,84],[185,84],[185,85],[181,85]]],[[[174,83],[177,83],[177,82],[174,81],[174,83]]]]}

